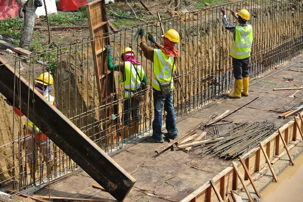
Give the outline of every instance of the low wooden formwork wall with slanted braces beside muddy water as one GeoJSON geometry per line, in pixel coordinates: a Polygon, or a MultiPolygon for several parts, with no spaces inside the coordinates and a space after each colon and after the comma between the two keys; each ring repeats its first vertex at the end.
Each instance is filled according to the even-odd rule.
{"type": "MultiPolygon", "coordinates": [[[[298,119],[298,124],[299,127],[303,129],[303,124],[300,121],[300,119],[298,119]]],[[[283,139],[287,140],[288,147],[292,147],[294,144],[298,143],[298,141],[295,142],[295,140],[297,137],[300,137],[300,134],[297,129],[297,126],[295,125],[294,120],[291,120],[285,125],[283,125],[280,128],[280,130],[283,139]]],[[[276,159],[279,154],[285,151],[284,145],[277,131],[274,132],[269,138],[264,140],[262,142],[262,145],[264,146],[265,152],[271,161],[276,159]]],[[[242,158],[244,159],[245,165],[250,175],[254,174],[256,171],[260,171],[261,168],[263,168],[264,165],[266,164],[265,156],[263,155],[263,152],[260,151],[260,147],[256,147],[252,149],[247,154],[245,154],[242,158]]],[[[238,165],[240,175],[243,177],[243,179],[246,180],[246,176],[242,164],[240,164],[238,161],[236,163],[238,165]]],[[[234,169],[231,167],[226,168],[224,171],[216,175],[213,178],[213,181],[215,182],[222,198],[225,198],[225,195],[228,192],[237,189],[238,186],[240,185],[240,181],[238,180],[238,177],[234,172],[234,169]]],[[[189,194],[183,200],[181,200],[181,202],[188,202],[188,201],[213,202],[213,201],[218,201],[218,198],[214,190],[210,186],[210,183],[208,182],[203,186],[199,187],[198,189],[196,189],[191,194],[189,194]]]]}

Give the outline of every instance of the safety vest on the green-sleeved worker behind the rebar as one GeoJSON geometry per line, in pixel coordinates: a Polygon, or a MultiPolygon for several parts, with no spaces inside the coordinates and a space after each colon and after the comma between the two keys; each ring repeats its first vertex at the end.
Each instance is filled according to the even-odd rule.
{"type": "Polygon", "coordinates": [[[123,81],[123,75],[120,72],[120,84],[124,86],[124,97],[126,98],[133,97],[133,91],[140,88],[141,80],[139,79],[139,76],[137,76],[137,72],[142,80],[144,77],[144,70],[142,66],[132,64],[130,61],[124,62],[125,81],[123,81]]]}

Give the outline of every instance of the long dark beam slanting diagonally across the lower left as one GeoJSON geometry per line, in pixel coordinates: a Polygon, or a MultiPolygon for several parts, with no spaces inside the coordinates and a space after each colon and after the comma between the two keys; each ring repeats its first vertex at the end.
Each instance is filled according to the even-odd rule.
{"type": "Polygon", "coordinates": [[[33,120],[43,133],[117,200],[123,200],[135,179],[77,128],[0,58],[0,93],[33,120]]]}

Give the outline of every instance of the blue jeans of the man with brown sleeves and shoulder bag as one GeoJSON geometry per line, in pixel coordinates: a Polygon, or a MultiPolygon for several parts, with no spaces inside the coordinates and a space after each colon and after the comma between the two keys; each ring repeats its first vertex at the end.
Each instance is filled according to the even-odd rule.
{"type": "Polygon", "coordinates": [[[172,135],[175,136],[178,133],[176,127],[176,115],[173,105],[174,93],[171,92],[167,95],[161,95],[160,91],[154,90],[154,112],[155,117],[153,121],[153,138],[156,140],[162,140],[162,109],[164,104],[164,110],[167,112],[166,116],[166,129],[172,135]]]}

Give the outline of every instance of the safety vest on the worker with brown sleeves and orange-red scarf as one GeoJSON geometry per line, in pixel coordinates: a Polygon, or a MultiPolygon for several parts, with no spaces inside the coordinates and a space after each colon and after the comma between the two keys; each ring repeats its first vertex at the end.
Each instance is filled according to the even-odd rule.
{"type": "Polygon", "coordinates": [[[159,82],[171,82],[171,90],[174,89],[172,73],[175,72],[174,57],[167,56],[161,49],[154,49],[154,76],[153,88],[161,91],[159,82]],[[172,72],[173,71],[173,72],[172,72]]]}

